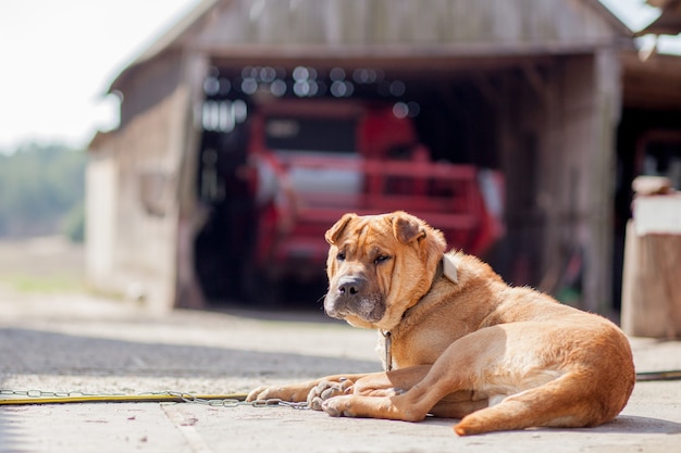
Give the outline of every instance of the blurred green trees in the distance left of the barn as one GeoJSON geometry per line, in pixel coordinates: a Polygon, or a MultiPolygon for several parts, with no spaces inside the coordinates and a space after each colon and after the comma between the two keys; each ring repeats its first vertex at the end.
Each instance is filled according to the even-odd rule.
{"type": "Polygon", "coordinates": [[[78,238],[85,162],[85,152],[61,146],[26,144],[0,154],[0,237],[49,235],[61,227],[78,238]]]}

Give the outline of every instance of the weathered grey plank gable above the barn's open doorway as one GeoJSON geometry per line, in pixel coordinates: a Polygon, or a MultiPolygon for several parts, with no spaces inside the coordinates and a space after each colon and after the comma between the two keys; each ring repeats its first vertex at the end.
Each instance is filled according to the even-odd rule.
{"type": "MultiPolygon", "coordinates": [[[[209,15],[194,45],[593,43],[612,35],[575,0],[234,0],[209,15]]],[[[471,52],[478,49],[469,48],[471,52]]],[[[370,50],[368,50],[370,51],[370,50]]]]}

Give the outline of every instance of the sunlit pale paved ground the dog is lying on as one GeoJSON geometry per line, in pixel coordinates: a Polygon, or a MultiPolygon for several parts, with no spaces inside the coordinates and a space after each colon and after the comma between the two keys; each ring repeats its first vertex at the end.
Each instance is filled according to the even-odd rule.
{"type": "MultiPolygon", "coordinates": [[[[123,302],[18,295],[0,286],[0,388],[228,393],[380,367],[371,331],[321,312],[269,317],[237,311],[150,316],[123,302]]],[[[681,369],[681,342],[632,344],[639,370],[681,369]]],[[[246,405],[0,406],[0,452],[679,452],[681,381],[637,383],[622,414],[595,429],[459,438],[453,423],[246,405]]]]}

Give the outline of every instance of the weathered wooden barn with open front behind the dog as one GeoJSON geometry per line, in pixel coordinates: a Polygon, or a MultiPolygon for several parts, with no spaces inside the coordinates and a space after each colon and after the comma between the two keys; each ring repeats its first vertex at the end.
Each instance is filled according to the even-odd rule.
{"type": "Polygon", "coordinates": [[[207,150],[263,103],[380,101],[434,161],[503,175],[504,235],[482,254],[507,280],[609,313],[630,181],[649,153],[681,162],[680,67],[643,61],[596,0],[206,0],[111,84],[120,126],[88,150],[88,277],[153,310],[231,299],[230,250],[252,240],[234,219],[251,211],[216,207],[243,187],[214,183],[207,150]]]}

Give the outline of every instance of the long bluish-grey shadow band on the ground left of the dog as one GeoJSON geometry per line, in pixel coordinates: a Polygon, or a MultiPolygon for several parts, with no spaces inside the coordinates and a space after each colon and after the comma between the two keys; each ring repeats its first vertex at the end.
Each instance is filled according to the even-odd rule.
{"type": "Polygon", "coordinates": [[[156,344],[0,329],[0,377],[87,376],[286,377],[375,372],[376,362],[211,347],[156,344]]]}

